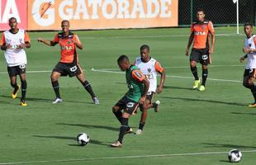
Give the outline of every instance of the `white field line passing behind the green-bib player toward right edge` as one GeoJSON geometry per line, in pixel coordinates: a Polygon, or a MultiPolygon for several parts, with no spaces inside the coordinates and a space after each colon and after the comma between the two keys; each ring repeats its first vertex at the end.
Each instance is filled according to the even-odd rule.
{"type": "MultiPolygon", "coordinates": [[[[102,69],[95,69],[95,68],[92,68],[92,72],[124,74],[124,72],[111,71],[111,70],[102,70],[102,69]]],[[[166,77],[167,78],[189,78],[189,79],[193,79],[192,77],[174,76],[174,75],[173,76],[166,75],[166,77]]],[[[242,81],[239,81],[239,80],[227,80],[227,79],[218,79],[218,78],[207,78],[207,80],[217,81],[217,82],[242,82],[242,81]]]]}

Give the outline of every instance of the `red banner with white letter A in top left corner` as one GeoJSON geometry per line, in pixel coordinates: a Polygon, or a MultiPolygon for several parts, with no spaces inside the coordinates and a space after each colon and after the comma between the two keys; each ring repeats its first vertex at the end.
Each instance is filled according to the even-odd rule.
{"type": "Polygon", "coordinates": [[[0,31],[10,28],[8,20],[16,17],[18,27],[27,29],[27,0],[1,0],[0,1],[0,31]]]}

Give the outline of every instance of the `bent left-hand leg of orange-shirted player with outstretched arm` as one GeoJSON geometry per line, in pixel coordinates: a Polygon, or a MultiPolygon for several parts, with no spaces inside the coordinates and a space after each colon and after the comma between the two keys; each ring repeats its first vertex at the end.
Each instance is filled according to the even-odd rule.
{"type": "Polygon", "coordinates": [[[54,88],[55,96],[56,96],[55,101],[53,101],[54,104],[62,102],[62,99],[59,94],[59,82],[58,82],[60,76],[61,76],[61,73],[55,72],[55,71],[53,71],[50,75],[51,84],[54,88]]]}

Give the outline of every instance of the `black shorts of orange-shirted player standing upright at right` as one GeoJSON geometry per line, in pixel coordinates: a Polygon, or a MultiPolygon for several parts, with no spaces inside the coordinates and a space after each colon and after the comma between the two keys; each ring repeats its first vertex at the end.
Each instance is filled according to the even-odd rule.
{"type": "Polygon", "coordinates": [[[196,61],[203,65],[210,63],[209,49],[192,49],[190,54],[190,61],[196,61]]]}

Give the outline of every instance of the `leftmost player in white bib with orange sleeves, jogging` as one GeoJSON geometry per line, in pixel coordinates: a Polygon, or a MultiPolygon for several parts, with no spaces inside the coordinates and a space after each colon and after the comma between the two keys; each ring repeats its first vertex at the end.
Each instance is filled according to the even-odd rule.
{"type": "Polygon", "coordinates": [[[26,105],[26,52],[25,48],[31,47],[31,40],[26,31],[17,27],[17,19],[9,19],[10,30],[2,33],[1,50],[7,62],[7,71],[10,77],[11,86],[14,88],[12,98],[17,97],[20,85],[17,85],[17,75],[21,79],[21,106],[26,105]]]}

